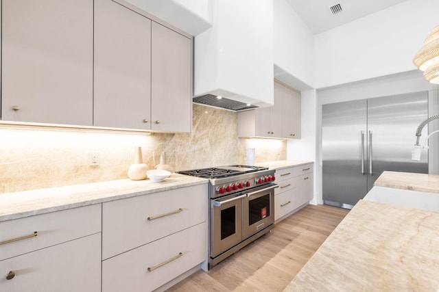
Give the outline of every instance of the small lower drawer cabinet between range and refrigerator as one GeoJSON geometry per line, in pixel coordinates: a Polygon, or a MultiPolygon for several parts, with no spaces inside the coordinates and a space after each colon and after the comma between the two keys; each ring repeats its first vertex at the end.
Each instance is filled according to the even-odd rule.
{"type": "Polygon", "coordinates": [[[276,170],[274,220],[282,220],[313,199],[313,163],[276,170]]]}

